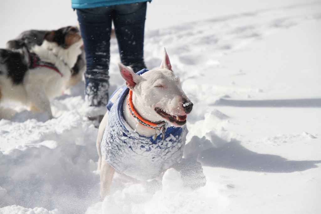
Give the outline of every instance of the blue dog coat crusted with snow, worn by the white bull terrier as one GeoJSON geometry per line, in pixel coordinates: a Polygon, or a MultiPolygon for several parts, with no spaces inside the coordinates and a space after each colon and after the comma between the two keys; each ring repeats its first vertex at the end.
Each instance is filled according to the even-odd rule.
{"type": "MultiPolygon", "coordinates": [[[[137,74],[147,71],[143,69],[137,74]]],[[[123,117],[122,104],[128,92],[129,89],[124,85],[109,100],[108,122],[101,143],[101,154],[120,173],[138,180],[153,179],[181,160],[187,128],[168,127],[164,140],[161,134],[155,140],[154,136],[140,136],[129,127],[123,117]]]]}

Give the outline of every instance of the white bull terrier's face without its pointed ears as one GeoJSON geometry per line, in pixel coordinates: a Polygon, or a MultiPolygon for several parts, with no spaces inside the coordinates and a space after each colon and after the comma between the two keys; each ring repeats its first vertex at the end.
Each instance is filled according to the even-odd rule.
{"type": "Polygon", "coordinates": [[[165,119],[174,126],[184,125],[187,118],[184,103],[188,98],[179,77],[168,69],[151,70],[140,77],[133,89],[137,110],[151,121],[165,119]]]}

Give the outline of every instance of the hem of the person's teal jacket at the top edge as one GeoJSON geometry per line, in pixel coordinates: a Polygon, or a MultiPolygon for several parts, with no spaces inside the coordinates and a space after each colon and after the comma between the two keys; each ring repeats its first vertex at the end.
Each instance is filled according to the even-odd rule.
{"type": "Polygon", "coordinates": [[[131,4],[137,2],[151,2],[152,0],[71,0],[73,9],[111,6],[116,4],[131,4]]]}

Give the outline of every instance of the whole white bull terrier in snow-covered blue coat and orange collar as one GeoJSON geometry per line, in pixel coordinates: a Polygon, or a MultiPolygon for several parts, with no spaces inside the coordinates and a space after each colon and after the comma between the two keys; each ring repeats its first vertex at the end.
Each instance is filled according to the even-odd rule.
{"type": "Polygon", "coordinates": [[[135,74],[118,63],[126,85],[111,96],[97,137],[100,197],[110,194],[115,170],[138,180],[160,177],[183,156],[193,103],[164,49],[159,69],[135,74]]]}

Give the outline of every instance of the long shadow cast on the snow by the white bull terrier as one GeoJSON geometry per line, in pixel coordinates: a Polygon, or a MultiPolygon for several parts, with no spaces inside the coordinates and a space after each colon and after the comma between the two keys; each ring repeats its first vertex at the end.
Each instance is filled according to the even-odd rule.
{"type": "Polygon", "coordinates": [[[321,163],[321,160],[294,161],[277,155],[259,154],[243,147],[237,140],[213,147],[209,146],[212,144],[210,140],[194,136],[189,143],[191,145],[187,144],[184,152],[187,156],[197,156],[197,160],[203,166],[265,173],[292,173],[317,168],[316,164],[321,163]],[[188,154],[188,150],[191,151],[195,147],[204,150],[188,154]]]}

